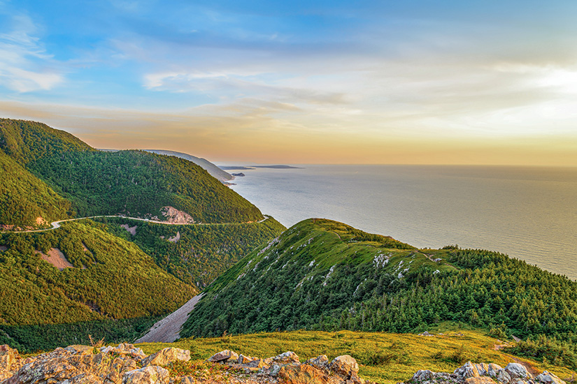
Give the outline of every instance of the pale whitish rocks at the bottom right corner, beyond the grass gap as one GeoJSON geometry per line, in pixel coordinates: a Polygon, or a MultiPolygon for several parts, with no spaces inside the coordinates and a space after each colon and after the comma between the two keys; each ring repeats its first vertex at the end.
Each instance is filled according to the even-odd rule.
{"type": "Polygon", "coordinates": [[[544,371],[535,377],[524,365],[511,362],[505,368],[497,364],[473,364],[466,362],[453,374],[417,371],[409,383],[413,384],[567,384],[560,378],[544,371]]]}

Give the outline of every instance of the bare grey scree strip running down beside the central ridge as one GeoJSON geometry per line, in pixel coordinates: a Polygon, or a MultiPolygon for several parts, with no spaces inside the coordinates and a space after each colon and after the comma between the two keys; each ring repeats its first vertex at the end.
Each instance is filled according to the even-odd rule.
{"type": "Polygon", "coordinates": [[[183,324],[188,320],[190,316],[190,311],[194,309],[194,305],[199,302],[202,295],[192,297],[186,304],[166,316],[155,325],[152,325],[150,330],[140,339],[134,341],[134,344],[138,343],[172,343],[180,339],[180,330],[183,324]]]}

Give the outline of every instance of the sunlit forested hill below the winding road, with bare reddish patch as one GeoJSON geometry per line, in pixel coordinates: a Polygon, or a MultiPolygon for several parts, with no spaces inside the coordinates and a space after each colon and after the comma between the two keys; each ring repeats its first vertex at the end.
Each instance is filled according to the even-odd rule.
{"type": "Polygon", "coordinates": [[[0,344],[31,352],[88,344],[90,334],[130,340],[197,295],[98,226],[0,235],[0,344]]]}

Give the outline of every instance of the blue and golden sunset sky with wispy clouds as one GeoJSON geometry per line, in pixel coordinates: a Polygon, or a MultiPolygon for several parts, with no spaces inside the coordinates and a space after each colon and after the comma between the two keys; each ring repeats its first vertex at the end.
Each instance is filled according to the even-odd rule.
{"type": "Polygon", "coordinates": [[[0,117],[216,163],[577,166],[577,1],[0,0],[0,117]]]}

